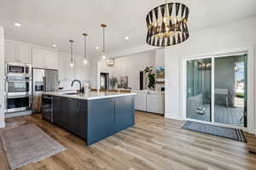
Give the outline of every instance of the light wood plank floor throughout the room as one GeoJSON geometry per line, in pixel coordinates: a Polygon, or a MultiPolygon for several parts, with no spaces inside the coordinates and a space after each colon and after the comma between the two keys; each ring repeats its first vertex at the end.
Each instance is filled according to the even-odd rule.
{"type": "MultiPolygon", "coordinates": [[[[67,150],[22,170],[190,170],[190,169],[256,169],[256,156],[247,152],[256,149],[256,138],[246,134],[248,143],[219,138],[182,129],[183,122],[163,116],[137,112],[136,125],[108,139],[84,145],[84,141],[62,130],[40,116],[9,118],[8,127],[34,123],[67,150]]],[[[0,144],[0,169],[8,169],[0,144]]]]}

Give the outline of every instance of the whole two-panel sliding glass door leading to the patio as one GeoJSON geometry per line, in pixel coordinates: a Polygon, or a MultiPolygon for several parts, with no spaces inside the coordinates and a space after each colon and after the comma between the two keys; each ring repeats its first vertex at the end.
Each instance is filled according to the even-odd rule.
{"type": "Polygon", "coordinates": [[[247,54],[186,61],[186,117],[247,127],[247,54]]]}

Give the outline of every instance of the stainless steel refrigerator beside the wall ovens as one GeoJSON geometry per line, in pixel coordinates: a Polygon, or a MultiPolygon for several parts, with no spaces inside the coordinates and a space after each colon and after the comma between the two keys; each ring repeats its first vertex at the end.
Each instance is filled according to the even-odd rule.
{"type": "Polygon", "coordinates": [[[32,113],[41,112],[43,92],[58,90],[58,71],[49,69],[32,69],[32,113]]]}

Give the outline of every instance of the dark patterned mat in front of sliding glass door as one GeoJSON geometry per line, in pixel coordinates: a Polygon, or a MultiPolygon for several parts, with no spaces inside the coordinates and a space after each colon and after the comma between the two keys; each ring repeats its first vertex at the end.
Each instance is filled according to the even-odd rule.
{"type": "Polygon", "coordinates": [[[224,137],[227,139],[233,139],[240,142],[247,142],[244,133],[241,129],[229,128],[229,127],[218,127],[201,122],[186,122],[183,125],[184,129],[189,129],[192,131],[212,134],[219,137],[224,137]]]}

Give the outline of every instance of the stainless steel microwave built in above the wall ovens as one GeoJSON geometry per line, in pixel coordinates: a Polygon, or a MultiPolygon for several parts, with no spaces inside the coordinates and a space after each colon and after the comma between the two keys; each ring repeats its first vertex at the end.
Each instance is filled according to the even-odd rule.
{"type": "Polygon", "coordinates": [[[31,65],[23,63],[6,63],[6,75],[7,76],[30,76],[31,65]]]}

